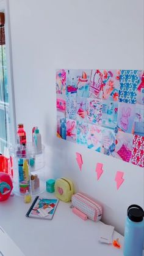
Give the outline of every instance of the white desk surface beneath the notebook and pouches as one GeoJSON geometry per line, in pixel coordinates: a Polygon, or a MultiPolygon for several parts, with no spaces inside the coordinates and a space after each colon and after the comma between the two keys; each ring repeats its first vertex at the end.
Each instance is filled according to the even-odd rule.
{"type": "MultiPolygon", "coordinates": [[[[54,198],[54,194],[47,192],[40,196],[54,198]]],[[[31,204],[24,204],[23,197],[15,195],[0,202],[0,226],[26,256],[123,255],[123,236],[117,232],[113,236],[119,238],[121,249],[101,244],[101,222],[80,219],[73,214],[70,204],[59,201],[52,220],[38,220],[25,217],[31,204]]]]}

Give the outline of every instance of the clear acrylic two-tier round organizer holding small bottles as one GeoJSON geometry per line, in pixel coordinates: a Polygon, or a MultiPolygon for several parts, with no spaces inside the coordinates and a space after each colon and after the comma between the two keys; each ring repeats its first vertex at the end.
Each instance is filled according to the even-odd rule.
{"type": "Polygon", "coordinates": [[[13,172],[13,192],[24,196],[26,190],[32,195],[45,191],[43,168],[45,166],[45,146],[42,145],[40,153],[35,152],[32,142],[28,142],[22,150],[10,147],[13,172]]]}

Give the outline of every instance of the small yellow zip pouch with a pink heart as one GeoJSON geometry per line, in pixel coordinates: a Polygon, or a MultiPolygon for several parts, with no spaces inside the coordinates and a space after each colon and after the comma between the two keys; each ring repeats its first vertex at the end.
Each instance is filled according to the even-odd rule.
{"type": "Polygon", "coordinates": [[[57,198],[64,202],[69,202],[74,193],[73,182],[66,177],[57,179],[54,184],[54,190],[57,198]]]}

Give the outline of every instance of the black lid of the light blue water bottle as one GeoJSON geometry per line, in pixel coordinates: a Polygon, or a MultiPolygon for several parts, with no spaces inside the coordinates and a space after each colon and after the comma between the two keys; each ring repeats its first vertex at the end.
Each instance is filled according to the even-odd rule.
{"type": "Polygon", "coordinates": [[[143,209],[137,205],[137,204],[132,204],[128,208],[128,217],[130,220],[133,222],[142,222],[143,220],[143,209]]]}

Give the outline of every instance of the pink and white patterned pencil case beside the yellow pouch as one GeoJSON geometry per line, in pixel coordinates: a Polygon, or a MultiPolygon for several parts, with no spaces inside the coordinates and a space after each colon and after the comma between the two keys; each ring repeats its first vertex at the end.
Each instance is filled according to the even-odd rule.
{"type": "Polygon", "coordinates": [[[84,193],[76,193],[71,197],[75,208],[87,215],[88,219],[98,222],[101,220],[103,208],[95,200],[84,193]]]}

